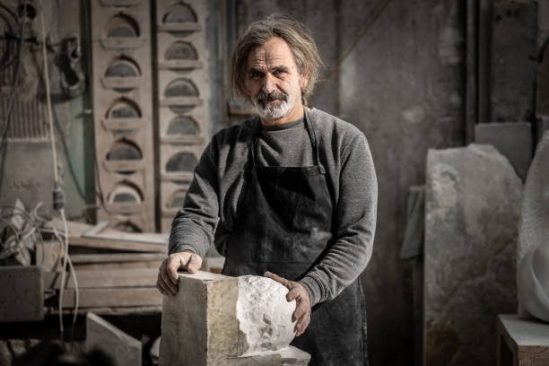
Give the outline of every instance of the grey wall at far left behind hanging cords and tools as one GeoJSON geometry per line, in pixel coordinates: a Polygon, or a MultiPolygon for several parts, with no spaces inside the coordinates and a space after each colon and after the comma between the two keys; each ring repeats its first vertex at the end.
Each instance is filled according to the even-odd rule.
{"type": "MultiPolygon", "coordinates": [[[[20,2],[7,0],[5,9],[16,9],[20,2]]],[[[43,57],[41,48],[40,12],[43,9],[45,31],[48,37],[48,71],[53,104],[53,118],[56,122],[57,161],[61,179],[65,183],[66,213],[69,217],[83,216],[86,202],[94,202],[93,185],[93,130],[92,118],[84,113],[89,109],[86,89],[83,95],[74,99],[65,97],[60,86],[60,68],[57,66],[62,50],[62,40],[70,34],[78,35],[82,40],[83,73],[87,74],[86,57],[89,49],[86,44],[84,26],[85,12],[82,2],[62,2],[44,0],[28,1],[36,6],[36,16],[26,25],[26,41],[22,48],[22,72],[20,83],[15,89],[14,106],[27,103],[36,105],[35,116],[26,114],[25,106],[13,109],[12,123],[21,123],[24,119],[38,118],[43,125],[44,134],[32,138],[11,138],[8,140],[5,155],[0,160],[0,205],[13,205],[14,198],[22,199],[27,210],[42,202],[41,213],[52,213],[53,158],[49,143],[48,111],[46,109],[45,85],[43,82],[43,57]],[[66,22],[66,20],[72,20],[66,22]],[[35,40],[36,39],[36,40],[35,40]],[[40,43],[39,43],[40,42],[40,43]],[[74,173],[71,173],[73,170],[74,173]],[[81,196],[79,191],[83,194],[81,196]]],[[[19,37],[19,30],[16,30],[19,37]]],[[[13,57],[13,55],[9,55],[13,57]]],[[[7,105],[12,92],[14,67],[5,70],[9,80],[0,90],[0,98],[7,105]]],[[[0,127],[4,130],[2,110],[0,127]]],[[[33,121],[32,123],[36,123],[33,121]]],[[[25,131],[22,131],[23,133],[25,131]]],[[[10,134],[8,134],[10,135],[10,134]]],[[[23,134],[25,135],[25,134],[23,134]]],[[[29,134],[26,134],[29,135],[29,134]]]]}

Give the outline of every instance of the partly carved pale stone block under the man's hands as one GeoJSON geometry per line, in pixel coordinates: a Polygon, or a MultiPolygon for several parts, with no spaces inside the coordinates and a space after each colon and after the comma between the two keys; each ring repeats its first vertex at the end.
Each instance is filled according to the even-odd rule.
{"type": "Polygon", "coordinates": [[[289,346],[287,292],[266,277],[179,274],[179,292],[162,301],[161,365],[306,365],[309,353],[289,346]]]}

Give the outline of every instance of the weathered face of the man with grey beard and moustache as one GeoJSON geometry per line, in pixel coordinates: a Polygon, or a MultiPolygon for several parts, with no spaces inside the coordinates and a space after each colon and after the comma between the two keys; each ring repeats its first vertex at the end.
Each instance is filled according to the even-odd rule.
{"type": "Polygon", "coordinates": [[[292,110],[302,108],[304,80],[292,49],[283,39],[269,39],[249,53],[246,77],[248,95],[261,118],[283,118],[292,110]]]}

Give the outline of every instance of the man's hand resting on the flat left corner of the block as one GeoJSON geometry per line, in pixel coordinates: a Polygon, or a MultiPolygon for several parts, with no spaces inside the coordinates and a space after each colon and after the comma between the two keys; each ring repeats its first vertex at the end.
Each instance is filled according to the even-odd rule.
{"type": "Polygon", "coordinates": [[[174,253],[162,262],[158,269],[156,288],[164,295],[173,296],[178,293],[178,269],[187,269],[189,274],[196,274],[202,266],[202,258],[190,250],[174,253]]]}

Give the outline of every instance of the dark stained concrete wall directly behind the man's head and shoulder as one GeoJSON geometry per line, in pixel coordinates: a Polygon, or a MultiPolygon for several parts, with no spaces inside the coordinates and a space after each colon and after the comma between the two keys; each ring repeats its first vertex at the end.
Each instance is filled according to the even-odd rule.
{"type": "Polygon", "coordinates": [[[411,271],[398,258],[406,192],[424,182],[428,148],[464,144],[465,2],[386,3],[241,0],[237,5],[239,34],[267,13],[290,13],[305,22],[327,71],[354,47],[339,72],[317,89],[313,105],[358,126],[370,142],[379,179],[374,252],[362,275],[370,360],[407,365],[414,359],[414,293],[411,271]]]}

